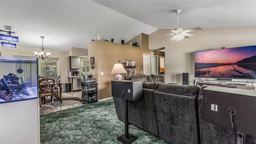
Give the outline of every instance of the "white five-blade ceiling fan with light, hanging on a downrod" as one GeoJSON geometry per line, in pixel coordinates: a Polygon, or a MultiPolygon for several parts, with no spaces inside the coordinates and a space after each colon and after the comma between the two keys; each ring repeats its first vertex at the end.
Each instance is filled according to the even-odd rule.
{"type": "MultiPolygon", "coordinates": [[[[177,28],[173,29],[173,30],[170,30],[172,32],[172,34],[166,34],[166,35],[163,35],[163,36],[170,36],[170,35],[174,35],[172,36],[172,38],[170,39],[171,40],[176,40],[176,41],[180,41],[182,40],[183,38],[193,38],[193,37],[196,37],[195,34],[189,34],[187,32],[192,32],[192,31],[196,31],[196,30],[202,30],[201,27],[196,27],[196,28],[190,28],[188,30],[183,30],[183,28],[179,28],[179,23],[178,23],[178,14],[181,12],[180,9],[176,9],[174,10],[177,14],[177,28]]],[[[161,36],[157,36],[156,38],[158,37],[161,37],[161,36]]]]}

